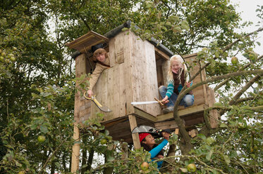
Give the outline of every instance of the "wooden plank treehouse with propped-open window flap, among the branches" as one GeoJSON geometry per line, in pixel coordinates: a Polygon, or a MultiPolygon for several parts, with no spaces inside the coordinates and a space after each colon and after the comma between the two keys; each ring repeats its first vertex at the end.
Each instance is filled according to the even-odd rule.
{"type": "MultiPolygon", "coordinates": [[[[130,27],[129,22],[111,30],[104,36],[95,32],[88,32],[80,38],[66,44],[76,51],[72,57],[75,58],[76,77],[82,74],[91,73],[94,69],[91,47],[96,44],[106,44],[106,51],[109,51],[110,68],[105,69],[99,76],[96,86],[93,88],[97,100],[109,107],[112,112],[102,112],[104,120],[102,123],[109,131],[114,140],[124,140],[132,143],[135,148],[140,147],[138,135],[132,135],[133,128],[139,125],[153,126],[155,128],[177,128],[173,119],[173,113],[161,114],[159,104],[131,105],[131,102],[152,101],[160,98],[158,87],[166,85],[166,74],[169,66],[169,58],[173,55],[165,46],[157,41],[142,41],[130,30],[123,32],[123,27],[130,27]]],[[[186,55],[184,59],[192,62],[197,54],[186,55]]],[[[199,70],[196,65],[191,74],[199,70]]],[[[206,79],[202,71],[193,83],[206,79]]],[[[207,85],[199,86],[193,90],[195,102],[192,107],[179,107],[178,114],[185,121],[185,126],[192,126],[203,123],[204,109],[214,104],[214,91],[207,85]]],[[[99,109],[90,100],[86,100],[75,94],[76,123],[82,123],[89,118],[96,116],[99,109]]],[[[209,113],[212,127],[216,127],[217,112],[209,113]]],[[[75,139],[78,139],[79,128],[75,126],[75,139]]],[[[78,147],[78,144],[75,146],[78,147]]],[[[74,151],[74,147],[73,147],[74,151]]],[[[78,149],[79,151],[79,149],[78,149]]],[[[73,152],[74,153],[74,152],[73,152]]],[[[74,153],[78,159],[79,153],[74,153]]]]}

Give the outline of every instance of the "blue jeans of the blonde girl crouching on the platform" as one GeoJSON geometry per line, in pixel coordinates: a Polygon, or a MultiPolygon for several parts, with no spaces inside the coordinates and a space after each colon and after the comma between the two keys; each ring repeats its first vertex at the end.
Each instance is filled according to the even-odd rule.
{"type": "MultiPolygon", "coordinates": [[[[160,86],[159,87],[159,93],[161,94],[161,98],[165,98],[167,92],[166,86],[160,86]]],[[[169,102],[166,103],[167,107],[173,107],[174,103],[176,102],[176,99],[178,98],[178,95],[176,93],[173,93],[171,97],[169,98],[169,102]]],[[[181,100],[180,104],[181,106],[190,107],[194,104],[194,96],[187,94],[183,96],[183,99],[181,100]]]]}

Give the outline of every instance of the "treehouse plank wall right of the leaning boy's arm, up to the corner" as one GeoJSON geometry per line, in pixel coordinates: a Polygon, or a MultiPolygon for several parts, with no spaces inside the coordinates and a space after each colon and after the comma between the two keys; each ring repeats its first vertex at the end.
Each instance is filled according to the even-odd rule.
{"type": "MultiPolygon", "coordinates": [[[[133,113],[129,39],[130,35],[121,32],[109,40],[111,68],[104,70],[94,86],[97,100],[112,110],[104,113],[104,121],[114,121],[133,113]]],[[[96,112],[99,109],[92,104],[91,115],[95,116],[96,112]]]]}

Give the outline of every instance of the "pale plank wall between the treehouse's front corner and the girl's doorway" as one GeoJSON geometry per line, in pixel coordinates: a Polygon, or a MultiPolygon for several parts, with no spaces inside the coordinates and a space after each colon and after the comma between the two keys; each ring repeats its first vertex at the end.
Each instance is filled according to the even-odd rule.
{"type": "MultiPolygon", "coordinates": [[[[132,38],[130,67],[133,74],[131,83],[133,102],[153,101],[154,98],[159,98],[154,46],[148,41],[142,41],[132,32],[129,35],[132,38]]],[[[161,114],[159,104],[136,105],[136,107],[154,116],[161,114]]]]}

